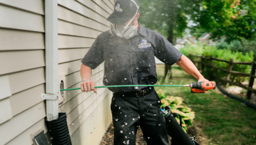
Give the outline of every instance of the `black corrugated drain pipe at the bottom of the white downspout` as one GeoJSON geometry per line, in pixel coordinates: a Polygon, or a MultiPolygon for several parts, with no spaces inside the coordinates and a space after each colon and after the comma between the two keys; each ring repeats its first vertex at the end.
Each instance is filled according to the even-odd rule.
{"type": "Polygon", "coordinates": [[[59,113],[59,118],[51,122],[46,120],[46,126],[53,145],[72,145],[66,122],[66,113],[59,113]]]}

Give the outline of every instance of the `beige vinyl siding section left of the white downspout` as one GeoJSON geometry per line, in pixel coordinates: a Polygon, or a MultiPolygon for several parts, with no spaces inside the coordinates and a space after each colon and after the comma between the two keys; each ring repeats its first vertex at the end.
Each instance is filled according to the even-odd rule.
{"type": "Polygon", "coordinates": [[[45,128],[44,1],[0,0],[0,19],[0,90],[9,93],[0,97],[0,144],[31,144],[45,128]]]}

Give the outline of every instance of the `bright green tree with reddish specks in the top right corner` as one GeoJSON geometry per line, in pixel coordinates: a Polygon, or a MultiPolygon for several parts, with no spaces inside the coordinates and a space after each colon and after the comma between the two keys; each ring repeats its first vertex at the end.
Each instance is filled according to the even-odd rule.
{"type": "Polygon", "coordinates": [[[226,37],[232,40],[255,39],[256,0],[203,0],[200,10],[190,14],[197,26],[194,30],[203,29],[212,32],[212,39],[226,37]]]}

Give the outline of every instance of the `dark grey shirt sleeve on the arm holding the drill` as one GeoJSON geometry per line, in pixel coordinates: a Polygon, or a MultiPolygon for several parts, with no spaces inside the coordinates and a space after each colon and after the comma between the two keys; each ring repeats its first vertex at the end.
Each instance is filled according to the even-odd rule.
{"type": "Polygon", "coordinates": [[[162,35],[158,35],[158,40],[154,48],[154,54],[156,58],[163,61],[165,64],[172,66],[183,55],[172,44],[165,39],[162,35]]]}

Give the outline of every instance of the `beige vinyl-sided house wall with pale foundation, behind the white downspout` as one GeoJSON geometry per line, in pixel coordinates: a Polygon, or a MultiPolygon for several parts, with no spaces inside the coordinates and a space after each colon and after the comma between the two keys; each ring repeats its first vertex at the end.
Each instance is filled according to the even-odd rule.
{"type": "MultiPolygon", "coordinates": [[[[0,0],[0,144],[32,144],[45,125],[45,10],[43,0],[0,0]]],[[[79,88],[81,60],[95,38],[109,30],[114,0],[59,0],[58,74],[64,88],[79,88]]],[[[102,86],[104,64],[92,79],[102,86]]],[[[60,85],[60,84],[59,84],[60,85]]],[[[99,144],[111,122],[112,93],[66,91],[59,112],[67,114],[73,144],[99,144]]]]}

